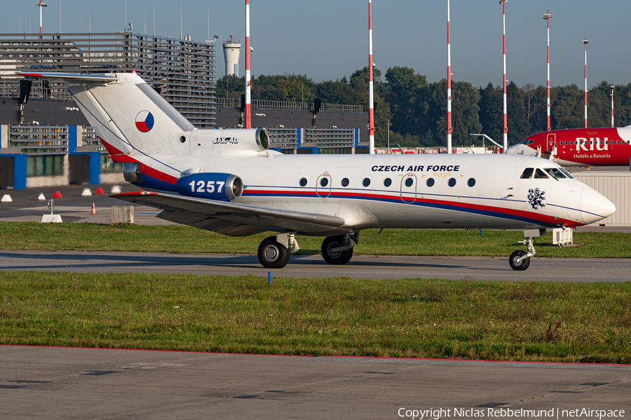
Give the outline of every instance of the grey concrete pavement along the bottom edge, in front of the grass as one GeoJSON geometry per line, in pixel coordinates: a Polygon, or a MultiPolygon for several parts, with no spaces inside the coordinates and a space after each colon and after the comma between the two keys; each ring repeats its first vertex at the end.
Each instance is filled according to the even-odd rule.
{"type": "Polygon", "coordinates": [[[484,417],[489,409],[543,409],[570,419],[563,410],[631,412],[630,366],[26,346],[0,346],[0,359],[0,418],[13,420],[411,419],[412,410],[427,409],[444,410],[428,416],[442,419],[469,418],[454,409],[484,417]]]}

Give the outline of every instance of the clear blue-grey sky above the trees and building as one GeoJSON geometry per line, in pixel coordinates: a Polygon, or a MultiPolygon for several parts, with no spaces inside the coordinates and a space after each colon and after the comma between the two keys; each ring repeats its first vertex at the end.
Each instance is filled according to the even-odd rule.
{"type": "MultiPolygon", "coordinates": [[[[35,1],[10,1],[0,32],[39,32],[35,1]]],[[[245,1],[45,0],[43,32],[133,32],[216,41],[215,76],[224,76],[221,39],[242,41],[245,75],[245,1]],[[155,7],[154,7],[155,4],[155,7]],[[154,25],[155,11],[155,25],[154,25]],[[180,13],[181,11],[181,13],[180,13]],[[126,18],[125,18],[126,16],[126,18]],[[181,21],[180,21],[181,17],[181,21]],[[61,27],[61,30],[60,30],[61,27]]],[[[550,9],[550,84],[584,86],[631,82],[630,0],[508,0],[506,65],[517,86],[546,84],[550,9]],[[606,6],[603,6],[606,5],[606,6]]],[[[412,67],[428,81],[447,76],[447,0],[373,0],[373,61],[382,78],[388,67],[412,67]]],[[[501,86],[502,6],[497,0],[451,0],[452,80],[501,86]]],[[[250,0],[252,75],[305,74],[315,82],[350,76],[368,64],[367,0],[250,0]]]]}

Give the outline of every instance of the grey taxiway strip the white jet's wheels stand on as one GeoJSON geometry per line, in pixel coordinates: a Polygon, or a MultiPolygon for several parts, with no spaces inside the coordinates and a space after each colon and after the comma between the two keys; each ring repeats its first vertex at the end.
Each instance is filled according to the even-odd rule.
{"type": "MultiPolygon", "coordinates": [[[[74,273],[186,273],[267,276],[256,255],[158,254],[150,252],[6,251],[1,270],[72,271],[74,273]]],[[[513,271],[508,257],[356,256],[344,266],[329,265],[320,255],[294,255],[274,277],[445,278],[448,280],[529,280],[623,282],[631,262],[616,258],[533,258],[527,271],[513,271]]]]}

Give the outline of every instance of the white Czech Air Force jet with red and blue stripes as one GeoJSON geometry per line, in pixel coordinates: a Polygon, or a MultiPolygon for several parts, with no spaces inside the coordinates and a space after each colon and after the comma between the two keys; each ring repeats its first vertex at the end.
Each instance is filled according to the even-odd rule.
{"type": "Polygon", "coordinates": [[[145,191],[114,197],[162,219],[229,236],[276,232],[259,246],[266,268],[299,249],[294,235],[325,236],[322,255],[346,264],[362,229],[524,229],[533,237],[616,210],[556,163],[518,155],[284,155],[264,128],[198,129],[137,74],[20,73],[74,79],[69,88],[114,162],[145,191]]]}

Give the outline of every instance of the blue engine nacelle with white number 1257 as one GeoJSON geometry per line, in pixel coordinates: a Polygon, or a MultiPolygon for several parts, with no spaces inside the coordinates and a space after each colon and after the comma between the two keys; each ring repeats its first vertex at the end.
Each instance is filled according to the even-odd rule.
{"type": "Polygon", "coordinates": [[[177,179],[175,191],[182,196],[231,201],[243,194],[243,181],[231,174],[197,172],[177,179]]]}

